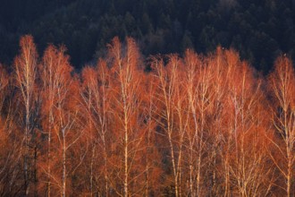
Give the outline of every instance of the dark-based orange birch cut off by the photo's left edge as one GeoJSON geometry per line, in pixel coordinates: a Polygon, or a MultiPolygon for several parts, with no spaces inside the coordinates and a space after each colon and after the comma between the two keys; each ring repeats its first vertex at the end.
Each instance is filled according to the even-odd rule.
{"type": "Polygon", "coordinates": [[[23,133],[14,123],[18,111],[12,88],[9,74],[0,64],[0,196],[23,194],[23,133]]]}

